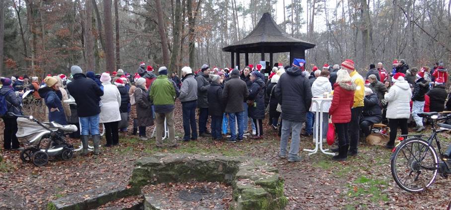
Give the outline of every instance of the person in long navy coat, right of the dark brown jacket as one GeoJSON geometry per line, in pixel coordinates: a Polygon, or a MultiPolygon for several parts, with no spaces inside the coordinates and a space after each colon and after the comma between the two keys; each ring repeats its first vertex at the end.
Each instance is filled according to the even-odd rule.
{"type": "Polygon", "coordinates": [[[251,139],[263,139],[263,119],[265,118],[265,76],[259,71],[250,73],[252,82],[249,88],[249,116],[255,125],[255,135],[251,139]]]}

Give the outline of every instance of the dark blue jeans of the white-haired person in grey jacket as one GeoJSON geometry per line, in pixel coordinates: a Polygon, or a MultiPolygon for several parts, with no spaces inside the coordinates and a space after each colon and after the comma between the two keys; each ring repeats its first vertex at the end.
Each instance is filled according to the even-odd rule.
{"type": "Polygon", "coordinates": [[[183,140],[197,139],[197,125],[196,125],[196,106],[197,101],[182,102],[182,115],[183,115],[183,131],[185,135],[183,140]]]}

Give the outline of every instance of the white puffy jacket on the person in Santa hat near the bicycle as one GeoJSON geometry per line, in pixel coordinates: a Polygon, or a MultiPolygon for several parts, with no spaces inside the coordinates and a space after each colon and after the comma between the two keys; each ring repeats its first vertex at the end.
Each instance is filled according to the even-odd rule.
{"type": "Polygon", "coordinates": [[[396,81],[391,86],[384,99],[388,102],[386,118],[388,119],[408,119],[410,117],[410,98],[412,90],[407,81],[396,81]]]}

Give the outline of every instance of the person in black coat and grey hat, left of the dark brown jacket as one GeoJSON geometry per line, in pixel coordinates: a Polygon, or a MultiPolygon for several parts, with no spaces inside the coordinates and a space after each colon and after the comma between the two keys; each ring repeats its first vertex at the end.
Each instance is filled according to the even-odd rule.
{"type": "Polygon", "coordinates": [[[213,140],[223,140],[221,127],[223,123],[224,106],[223,106],[223,88],[221,87],[221,76],[210,74],[212,83],[208,88],[208,113],[212,118],[211,129],[213,140]]]}

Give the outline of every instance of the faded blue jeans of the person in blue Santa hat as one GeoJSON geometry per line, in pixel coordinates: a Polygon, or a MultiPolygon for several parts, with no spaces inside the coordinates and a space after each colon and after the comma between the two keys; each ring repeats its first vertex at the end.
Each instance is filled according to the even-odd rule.
{"type": "Polygon", "coordinates": [[[290,131],[292,132],[292,134],[288,158],[294,158],[298,156],[300,143],[299,135],[301,134],[302,124],[302,122],[292,122],[284,120],[284,122],[282,123],[282,136],[280,138],[280,156],[287,155],[287,144],[288,137],[290,136],[290,131]]]}

